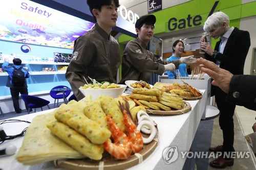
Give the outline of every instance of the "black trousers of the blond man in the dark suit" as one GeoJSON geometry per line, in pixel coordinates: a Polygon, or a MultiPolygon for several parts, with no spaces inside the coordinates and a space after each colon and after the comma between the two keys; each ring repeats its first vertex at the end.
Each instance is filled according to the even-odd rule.
{"type": "Polygon", "coordinates": [[[220,110],[219,124],[223,133],[223,148],[225,152],[234,151],[234,123],[233,115],[236,105],[226,102],[227,94],[219,87],[215,88],[215,99],[220,110]]]}

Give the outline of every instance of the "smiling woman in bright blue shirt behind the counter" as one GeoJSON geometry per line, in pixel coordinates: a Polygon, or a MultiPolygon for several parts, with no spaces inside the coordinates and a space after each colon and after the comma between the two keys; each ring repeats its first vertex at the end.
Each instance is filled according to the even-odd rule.
{"type": "Polygon", "coordinates": [[[188,77],[186,64],[196,63],[197,59],[193,56],[180,57],[184,52],[184,43],[181,40],[176,40],[173,43],[173,55],[170,56],[166,61],[180,60],[179,68],[175,70],[166,70],[169,79],[174,79],[179,76],[188,77]]]}

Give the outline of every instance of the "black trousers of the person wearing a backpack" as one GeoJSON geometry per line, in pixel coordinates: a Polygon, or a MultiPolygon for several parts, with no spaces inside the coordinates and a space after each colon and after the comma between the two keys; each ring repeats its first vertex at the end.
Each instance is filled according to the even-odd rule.
{"type": "MultiPolygon", "coordinates": [[[[28,88],[20,88],[20,87],[15,87],[15,88],[10,88],[11,95],[12,95],[12,102],[13,102],[13,107],[16,113],[22,112],[22,109],[19,108],[19,103],[18,103],[18,96],[20,94],[29,94],[28,93],[28,88]]],[[[28,105],[25,103],[26,109],[29,110],[28,105]]]]}

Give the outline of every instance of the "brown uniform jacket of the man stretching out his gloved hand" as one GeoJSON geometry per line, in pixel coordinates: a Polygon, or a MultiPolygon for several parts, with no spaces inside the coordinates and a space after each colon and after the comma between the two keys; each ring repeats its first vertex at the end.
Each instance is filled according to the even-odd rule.
{"type": "MultiPolygon", "coordinates": [[[[179,60],[172,61],[176,67],[179,66],[179,60]]],[[[153,53],[146,50],[146,44],[139,38],[131,40],[127,43],[122,58],[122,80],[124,84],[126,80],[143,80],[150,81],[152,72],[162,75],[164,72],[165,62],[154,56],[153,53]]]]}

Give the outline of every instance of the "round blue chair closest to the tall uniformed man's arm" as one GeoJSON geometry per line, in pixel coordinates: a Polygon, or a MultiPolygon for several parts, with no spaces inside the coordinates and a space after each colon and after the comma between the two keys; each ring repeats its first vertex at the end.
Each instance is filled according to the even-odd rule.
{"type": "Polygon", "coordinates": [[[69,96],[70,92],[71,92],[71,89],[68,86],[60,85],[60,86],[53,87],[50,91],[50,95],[54,99],[54,107],[55,107],[56,99],[57,99],[57,107],[59,104],[59,99],[63,99],[63,102],[67,104],[68,103],[67,97],[69,96]]]}

